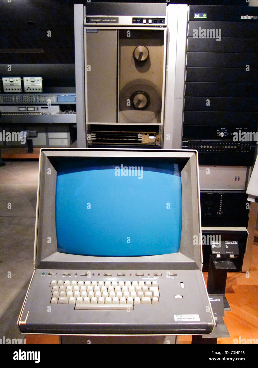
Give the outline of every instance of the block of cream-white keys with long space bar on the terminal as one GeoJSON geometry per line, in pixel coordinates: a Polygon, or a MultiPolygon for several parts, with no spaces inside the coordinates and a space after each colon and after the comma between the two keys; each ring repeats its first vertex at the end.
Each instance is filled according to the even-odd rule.
{"type": "Polygon", "coordinates": [[[157,281],[52,280],[50,304],[74,304],[75,310],[133,310],[137,304],[159,304],[157,281]]]}

